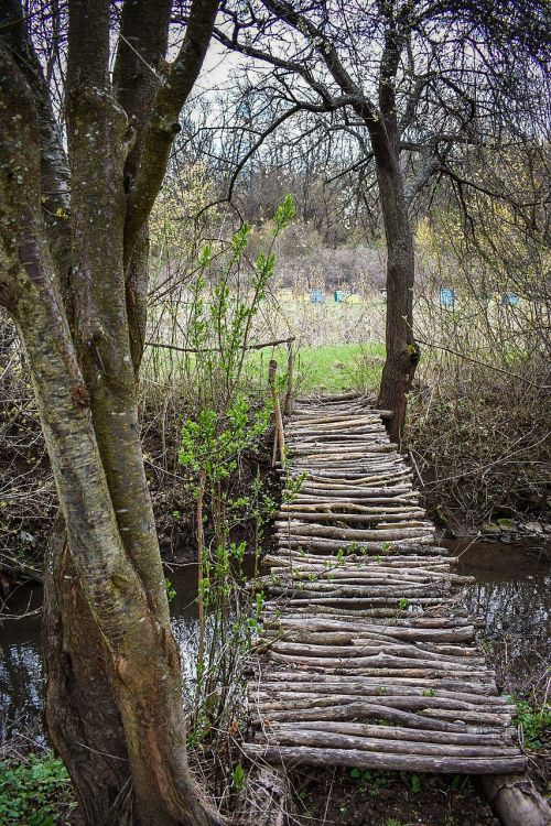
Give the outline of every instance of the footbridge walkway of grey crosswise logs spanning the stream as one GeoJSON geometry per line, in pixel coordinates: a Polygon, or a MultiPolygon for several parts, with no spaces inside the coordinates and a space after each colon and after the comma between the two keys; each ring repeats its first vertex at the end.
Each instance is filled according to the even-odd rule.
{"type": "Polygon", "coordinates": [[[287,496],[264,557],[247,754],[269,763],[522,772],[498,696],[412,472],[363,398],[299,401],[287,496]]]}

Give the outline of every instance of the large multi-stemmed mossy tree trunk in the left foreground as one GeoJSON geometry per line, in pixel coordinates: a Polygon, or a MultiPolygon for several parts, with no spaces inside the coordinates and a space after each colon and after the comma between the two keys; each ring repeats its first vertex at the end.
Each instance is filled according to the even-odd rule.
{"type": "Polygon", "coordinates": [[[46,719],[89,824],[216,819],[187,769],[136,378],[148,216],[216,10],[192,3],[161,76],[171,2],[126,2],[111,81],[108,0],[71,0],[67,157],[19,0],[0,12],[0,303],[26,352],[61,503],[46,719]]]}

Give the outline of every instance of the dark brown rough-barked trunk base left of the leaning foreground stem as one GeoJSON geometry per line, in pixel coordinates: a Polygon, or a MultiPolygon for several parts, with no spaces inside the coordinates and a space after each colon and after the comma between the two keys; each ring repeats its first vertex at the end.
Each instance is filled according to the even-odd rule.
{"type": "Polygon", "coordinates": [[[46,551],[42,640],[47,730],[71,767],[83,819],[122,823],[125,813],[131,815],[132,784],[112,675],[107,680],[109,652],[79,586],[61,517],[46,551]]]}

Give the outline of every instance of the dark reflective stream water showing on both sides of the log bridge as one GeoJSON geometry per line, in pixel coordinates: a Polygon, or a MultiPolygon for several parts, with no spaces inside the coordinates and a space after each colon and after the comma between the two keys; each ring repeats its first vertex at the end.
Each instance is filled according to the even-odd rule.
{"type": "MultiPolygon", "coordinates": [[[[446,543],[460,555],[458,573],[475,577],[465,593],[469,610],[482,618],[482,642],[495,667],[498,687],[522,692],[549,674],[551,651],[551,545],[525,540],[500,543],[446,543]]],[[[173,631],[184,672],[196,649],[196,570],[170,574],[173,631]]],[[[21,588],[10,602],[13,615],[36,611],[41,590],[21,588]]],[[[0,626],[0,743],[10,731],[40,730],[44,678],[40,611],[0,626]]]]}

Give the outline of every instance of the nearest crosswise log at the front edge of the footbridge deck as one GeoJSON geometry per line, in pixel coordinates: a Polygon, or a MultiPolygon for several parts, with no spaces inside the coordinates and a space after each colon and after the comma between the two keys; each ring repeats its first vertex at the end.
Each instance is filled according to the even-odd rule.
{"type": "Polygon", "coordinates": [[[499,774],[522,772],[523,756],[507,758],[436,758],[415,754],[377,754],[358,749],[314,749],[305,746],[261,746],[245,743],[244,751],[251,759],[273,763],[309,765],[349,765],[382,771],[432,772],[444,774],[499,774]]]}

